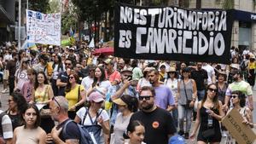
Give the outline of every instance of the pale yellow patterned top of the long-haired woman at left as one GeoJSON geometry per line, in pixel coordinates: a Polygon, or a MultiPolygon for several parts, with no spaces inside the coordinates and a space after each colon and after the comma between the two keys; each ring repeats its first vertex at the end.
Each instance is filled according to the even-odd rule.
{"type": "Polygon", "coordinates": [[[49,84],[44,84],[44,90],[39,92],[38,88],[35,90],[35,101],[36,102],[45,102],[49,101],[49,95],[48,95],[48,90],[49,90],[50,85],[49,84]]]}

